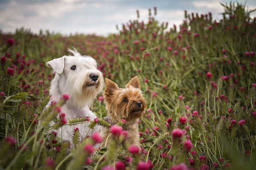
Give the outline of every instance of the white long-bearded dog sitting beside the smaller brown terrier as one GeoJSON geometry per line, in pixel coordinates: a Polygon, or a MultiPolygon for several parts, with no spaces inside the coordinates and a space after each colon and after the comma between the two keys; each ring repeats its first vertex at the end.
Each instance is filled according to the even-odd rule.
{"type": "MultiPolygon", "coordinates": [[[[81,56],[76,49],[68,51],[74,56],[63,56],[46,63],[56,73],[49,90],[51,101],[60,101],[63,94],[68,94],[69,100],[61,107],[61,113],[65,113],[67,120],[86,116],[94,120],[96,115],[90,111],[89,106],[103,89],[102,73],[97,70],[97,63],[92,57],[81,56]]],[[[56,130],[57,137],[61,137],[62,134],[63,141],[72,143],[74,129],[79,128],[80,140],[83,140],[89,130],[88,125],[85,123],[62,126],[62,132],[60,128],[56,130]]],[[[90,130],[88,135],[92,135],[93,132],[90,130]]]]}

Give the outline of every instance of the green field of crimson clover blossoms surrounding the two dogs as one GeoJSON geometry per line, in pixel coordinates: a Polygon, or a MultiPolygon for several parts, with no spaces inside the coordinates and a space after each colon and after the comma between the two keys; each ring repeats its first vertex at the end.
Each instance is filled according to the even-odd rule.
{"type": "Polygon", "coordinates": [[[256,21],[243,5],[223,7],[221,20],[185,12],[179,32],[155,20],[154,8],[147,21],[129,21],[108,37],[1,33],[0,168],[255,169],[256,21]],[[84,122],[110,128],[101,94],[91,107],[96,120],[63,121],[65,100],[42,112],[54,77],[46,62],[73,46],[119,87],[138,75],[148,106],[138,122],[141,150],[116,126],[103,148],[93,147],[97,133],[79,141],[82,129],[74,129],[72,148],[47,133],[84,122]]]}

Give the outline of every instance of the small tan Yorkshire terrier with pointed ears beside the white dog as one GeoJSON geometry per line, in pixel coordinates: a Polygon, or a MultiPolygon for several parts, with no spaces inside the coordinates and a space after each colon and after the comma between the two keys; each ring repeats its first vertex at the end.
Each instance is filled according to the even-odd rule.
{"type": "MultiPolygon", "coordinates": [[[[122,119],[126,120],[123,130],[128,131],[126,141],[129,145],[140,146],[138,118],[147,108],[146,100],[142,96],[139,78],[135,76],[126,84],[126,88],[119,88],[116,83],[106,78],[106,88],[103,93],[108,116],[105,117],[110,124],[118,124],[122,119]]],[[[101,128],[100,134],[104,139],[101,147],[105,146],[106,138],[110,134],[110,129],[101,128]]]]}

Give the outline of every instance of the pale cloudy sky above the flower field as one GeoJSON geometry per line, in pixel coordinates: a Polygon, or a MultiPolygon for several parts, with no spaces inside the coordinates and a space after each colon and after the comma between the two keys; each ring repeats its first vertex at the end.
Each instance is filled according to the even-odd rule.
{"type": "MultiPolygon", "coordinates": [[[[188,13],[212,12],[214,19],[221,19],[224,8],[220,3],[228,0],[0,0],[0,29],[2,32],[14,32],[16,28],[30,28],[39,33],[40,29],[62,33],[96,33],[108,35],[117,33],[115,25],[137,19],[147,21],[148,8],[158,14],[155,19],[168,22],[169,25],[183,22],[184,10],[188,13]]],[[[235,2],[245,3],[244,0],[235,2]]],[[[247,0],[249,9],[256,8],[255,0],[247,0]]],[[[152,12],[153,13],[153,12],[152,12]]],[[[253,17],[256,16],[254,12],[253,17]]]]}

